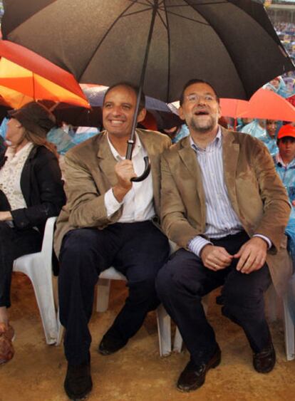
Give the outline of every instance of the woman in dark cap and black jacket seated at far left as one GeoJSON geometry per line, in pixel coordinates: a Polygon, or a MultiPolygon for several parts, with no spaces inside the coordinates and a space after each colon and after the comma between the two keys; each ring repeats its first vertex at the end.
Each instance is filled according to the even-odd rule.
{"type": "Polygon", "coordinates": [[[66,202],[56,150],[46,141],[54,115],[36,102],[9,114],[0,160],[0,364],[14,355],[7,312],[14,259],[41,250],[46,219],[66,202]]]}

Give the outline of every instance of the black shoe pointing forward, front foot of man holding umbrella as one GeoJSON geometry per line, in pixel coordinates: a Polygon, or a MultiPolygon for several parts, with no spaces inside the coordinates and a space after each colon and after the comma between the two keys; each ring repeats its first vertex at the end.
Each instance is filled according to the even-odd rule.
{"type": "Polygon", "coordinates": [[[92,390],[90,363],[83,363],[81,365],[70,365],[68,363],[63,387],[71,400],[78,401],[85,398],[92,390]]]}

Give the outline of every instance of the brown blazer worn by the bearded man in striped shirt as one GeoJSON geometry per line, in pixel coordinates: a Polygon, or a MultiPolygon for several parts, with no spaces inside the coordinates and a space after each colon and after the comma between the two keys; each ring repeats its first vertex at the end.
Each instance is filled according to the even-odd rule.
{"type": "MultiPolygon", "coordinates": [[[[229,199],[245,231],[267,236],[273,246],[267,264],[278,293],[291,275],[284,230],[290,204],[274,162],[262,142],[222,128],[224,180],[229,199]]],[[[161,157],[161,222],[165,234],[187,248],[205,232],[206,207],[200,165],[189,137],[172,145],[161,157]]]]}

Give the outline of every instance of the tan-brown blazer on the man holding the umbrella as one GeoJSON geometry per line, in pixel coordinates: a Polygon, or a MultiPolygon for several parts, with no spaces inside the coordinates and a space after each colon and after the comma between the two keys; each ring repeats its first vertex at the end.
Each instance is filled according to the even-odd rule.
{"type": "MultiPolygon", "coordinates": [[[[137,130],[137,133],[150,158],[155,211],[160,215],[160,153],[171,141],[160,132],[137,130]]],[[[123,209],[107,217],[104,194],[117,183],[117,160],[110,151],[105,131],[69,150],[64,162],[67,203],[56,223],[54,249],[57,255],[68,231],[83,227],[103,229],[118,222],[123,209]]]]}

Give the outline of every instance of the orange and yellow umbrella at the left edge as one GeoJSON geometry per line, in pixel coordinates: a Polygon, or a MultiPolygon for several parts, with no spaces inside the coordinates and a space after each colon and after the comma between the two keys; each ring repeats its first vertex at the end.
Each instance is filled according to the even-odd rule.
{"type": "Polygon", "coordinates": [[[19,108],[31,100],[53,100],[90,108],[71,73],[16,43],[0,40],[0,95],[19,108]]]}

